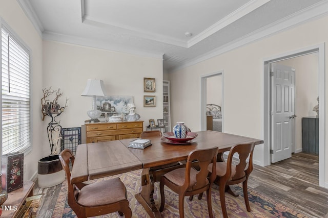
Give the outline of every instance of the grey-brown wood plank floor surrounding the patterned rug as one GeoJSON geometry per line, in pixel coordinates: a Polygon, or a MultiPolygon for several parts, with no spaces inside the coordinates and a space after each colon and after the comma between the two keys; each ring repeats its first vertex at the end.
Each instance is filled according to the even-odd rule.
{"type": "MultiPolygon", "coordinates": [[[[328,189],[319,187],[319,158],[306,153],[261,167],[254,165],[249,187],[309,217],[328,217],[328,189]]],[[[38,188],[34,195],[43,194],[39,217],[51,217],[61,184],[38,188]]]]}

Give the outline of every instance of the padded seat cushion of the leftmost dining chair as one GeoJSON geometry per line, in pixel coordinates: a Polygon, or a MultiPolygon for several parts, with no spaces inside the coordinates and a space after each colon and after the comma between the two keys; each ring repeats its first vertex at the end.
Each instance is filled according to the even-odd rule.
{"type": "Polygon", "coordinates": [[[119,178],[95,182],[79,191],[77,202],[91,207],[115,203],[126,199],[126,187],[119,178]]]}

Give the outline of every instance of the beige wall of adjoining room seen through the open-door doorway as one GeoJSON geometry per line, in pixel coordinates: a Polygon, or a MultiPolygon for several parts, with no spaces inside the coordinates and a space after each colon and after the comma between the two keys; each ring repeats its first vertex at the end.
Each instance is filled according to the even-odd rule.
{"type": "Polygon", "coordinates": [[[302,151],[302,117],[316,116],[313,107],[318,104],[318,54],[303,55],[277,62],[295,69],[295,138],[296,152],[302,151]]]}

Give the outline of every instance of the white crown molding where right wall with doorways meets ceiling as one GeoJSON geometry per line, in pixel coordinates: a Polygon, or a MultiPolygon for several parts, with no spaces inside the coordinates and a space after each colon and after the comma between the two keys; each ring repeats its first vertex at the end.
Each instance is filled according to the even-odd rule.
{"type": "Polygon", "coordinates": [[[327,8],[328,8],[328,1],[323,1],[323,2],[317,3],[309,8],[303,9],[303,10],[301,10],[297,13],[294,13],[288,17],[278,20],[267,27],[261,28],[257,31],[247,34],[237,40],[234,40],[231,43],[228,43],[221,47],[218,47],[217,49],[207,52],[207,53],[205,53],[201,56],[198,56],[197,58],[194,58],[192,60],[186,61],[185,63],[182,63],[177,67],[172,67],[171,69],[169,69],[169,72],[175,72],[180,69],[195,65],[199,62],[208,60],[210,58],[216,57],[223,53],[237,49],[238,47],[240,47],[242,45],[261,40],[265,37],[272,36],[276,33],[299,26],[305,22],[319,19],[328,14],[328,11],[326,10],[327,8]]]}

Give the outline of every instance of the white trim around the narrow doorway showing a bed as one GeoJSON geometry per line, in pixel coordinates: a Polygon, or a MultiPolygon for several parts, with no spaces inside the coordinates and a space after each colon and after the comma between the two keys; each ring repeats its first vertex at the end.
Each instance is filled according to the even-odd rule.
{"type": "Polygon", "coordinates": [[[211,72],[210,74],[204,74],[200,76],[200,131],[206,130],[206,79],[215,76],[221,76],[221,89],[222,89],[222,103],[221,103],[221,113],[222,113],[222,132],[224,127],[224,70],[219,70],[216,72],[211,72]]]}

